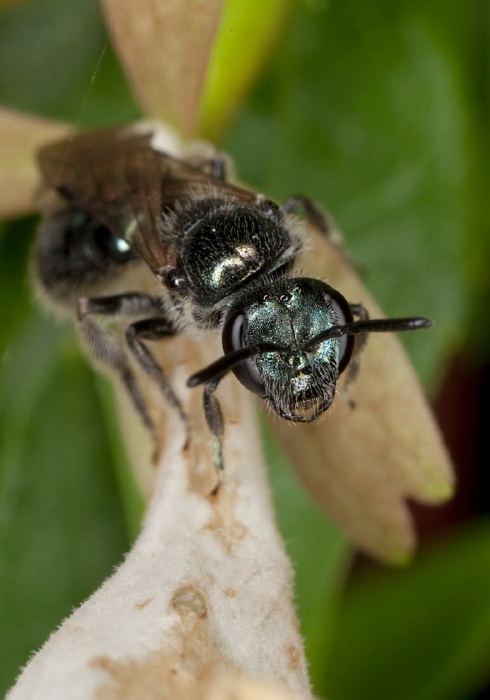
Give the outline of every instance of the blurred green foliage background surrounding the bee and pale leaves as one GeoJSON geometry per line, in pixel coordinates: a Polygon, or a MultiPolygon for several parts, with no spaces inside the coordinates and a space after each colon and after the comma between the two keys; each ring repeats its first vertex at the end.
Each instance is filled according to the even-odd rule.
{"type": "MultiPolygon", "coordinates": [[[[245,5],[253,26],[268,3],[245,5]]],[[[441,396],[444,382],[448,441],[465,431],[472,439],[489,376],[490,3],[297,0],[281,23],[221,145],[241,178],[271,197],[300,191],[329,209],[389,315],[435,321],[403,340],[428,390],[441,396]],[[451,363],[473,378],[458,395],[451,363]]],[[[24,0],[0,11],[0,104],[84,128],[139,116],[96,0],[24,0]]],[[[121,561],[142,504],[105,380],[87,367],[72,330],[31,301],[35,217],[0,226],[1,693],[121,561]]],[[[471,512],[485,510],[485,499],[470,493],[468,522],[459,517],[409,569],[364,562],[348,575],[350,545],[267,436],[266,450],[315,693],[483,697],[490,526],[471,512]]],[[[485,459],[474,444],[468,450],[463,484],[476,483],[485,459]]]]}

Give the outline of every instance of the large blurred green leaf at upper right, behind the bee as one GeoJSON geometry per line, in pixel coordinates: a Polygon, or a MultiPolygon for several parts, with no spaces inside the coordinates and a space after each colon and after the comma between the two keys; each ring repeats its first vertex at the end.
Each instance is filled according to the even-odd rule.
{"type": "Polygon", "coordinates": [[[245,181],[331,211],[389,315],[435,321],[403,338],[426,380],[460,342],[468,301],[474,154],[459,12],[411,0],[297,9],[225,143],[245,181]]]}

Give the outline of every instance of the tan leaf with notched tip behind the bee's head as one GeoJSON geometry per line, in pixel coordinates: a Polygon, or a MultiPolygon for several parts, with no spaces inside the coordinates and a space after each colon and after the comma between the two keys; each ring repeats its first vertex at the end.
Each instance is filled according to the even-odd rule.
{"type": "MultiPolygon", "coordinates": [[[[342,251],[311,234],[314,246],[303,269],[326,278],[349,301],[363,303],[372,317],[382,316],[342,251]]],[[[421,331],[421,343],[429,332],[421,331]]],[[[415,545],[407,499],[447,500],[453,491],[450,460],[394,335],[371,334],[348,393],[355,408],[339,395],[322,420],[300,427],[274,420],[273,428],[332,519],[375,557],[403,563],[415,545]]]]}

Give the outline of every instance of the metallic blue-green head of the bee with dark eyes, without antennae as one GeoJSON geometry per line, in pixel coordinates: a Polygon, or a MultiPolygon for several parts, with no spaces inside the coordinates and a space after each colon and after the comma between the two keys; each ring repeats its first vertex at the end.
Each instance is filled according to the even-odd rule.
{"type": "Polygon", "coordinates": [[[240,295],[223,327],[225,353],[272,344],[232,368],[250,391],[282,418],[310,422],[327,410],[339,374],[349,363],[353,337],[308,343],[352,321],[347,300],[319,280],[282,278],[240,295]]]}

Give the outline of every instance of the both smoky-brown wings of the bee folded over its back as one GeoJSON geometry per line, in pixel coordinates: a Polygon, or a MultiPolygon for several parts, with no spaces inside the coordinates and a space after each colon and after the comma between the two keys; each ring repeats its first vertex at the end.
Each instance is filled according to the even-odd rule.
{"type": "Polygon", "coordinates": [[[156,151],[151,140],[123,129],[82,134],[43,148],[39,163],[50,188],[124,238],[156,272],[175,264],[162,234],[166,208],[206,193],[250,205],[255,194],[156,151]]]}

